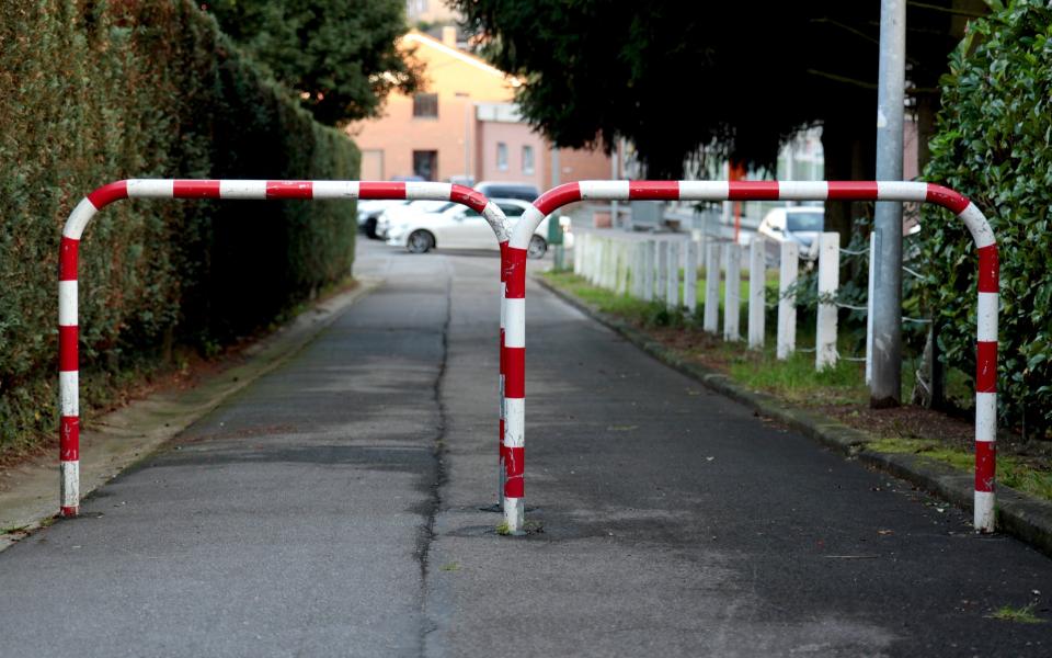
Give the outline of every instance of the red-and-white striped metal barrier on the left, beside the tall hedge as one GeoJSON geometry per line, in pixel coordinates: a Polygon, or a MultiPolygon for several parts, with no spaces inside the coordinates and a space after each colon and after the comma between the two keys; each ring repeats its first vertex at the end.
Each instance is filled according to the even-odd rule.
{"type": "MultiPolygon", "coordinates": [[[[122,198],[350,200],[407,198],[453,201],[489,222],[501,253],[510,224],[500,206],[484,195],[450,183],[358,181],[251,181],[130,179],[99,188],[73,208],[62,229],[58,282],[60,514],[77,515],[80,507],[80,390],[78,386],[77,249],[95,213],[122,198]]],[[[505,268],[501,268],[502,277],[505,268]]],[[[503,297],[503,294],[502,294],[503,297]]],[[[503,303],[502,303],[503,309],[503,303]]],[[[503,315],[503,313],[502,313],[503,315]]]]}

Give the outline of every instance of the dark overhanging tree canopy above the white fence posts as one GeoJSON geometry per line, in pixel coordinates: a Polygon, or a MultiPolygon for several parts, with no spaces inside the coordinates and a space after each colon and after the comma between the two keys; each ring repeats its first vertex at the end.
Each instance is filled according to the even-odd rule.
{"type": "MultiPolygon", "coordinates": [[[[917,87],[934,87],[946,69],[961,3],[974,4],[912,3],[917,87]]],[[[678,177],[701,148],[769,166],[782,140],[810,125],[874,134],[878,2],[455,4],[494,65],[526,79],[517,100],[531,124],[565,147],[627,137],[651,177],[678,177]]]]}

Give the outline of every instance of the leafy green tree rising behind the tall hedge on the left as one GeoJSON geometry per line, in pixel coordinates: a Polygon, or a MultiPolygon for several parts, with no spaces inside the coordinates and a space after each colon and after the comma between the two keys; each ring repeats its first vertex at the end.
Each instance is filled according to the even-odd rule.
{"type": "Polygon", "coordinates": [[[405,32],[399,0],[216,0],[207,9],[322,123],[375,116],[390,91],[420,83],[396,47],[405,32]]]}

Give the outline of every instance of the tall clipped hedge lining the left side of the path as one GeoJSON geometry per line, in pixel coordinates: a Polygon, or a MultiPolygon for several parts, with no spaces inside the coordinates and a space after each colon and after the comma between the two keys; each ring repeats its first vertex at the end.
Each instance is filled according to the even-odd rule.
{"type": "MultiPolygon", "coordinates": [[[[358,151],[193,2],[0,7],[2,452],[27,422],[55,427],[58,240],[85,193],[123,178],[355,179],[358,151]]],[[[266,325],[350,274],[354,228],[350,203],[108,207],[81,247],[87,374],[266,325]]]]}

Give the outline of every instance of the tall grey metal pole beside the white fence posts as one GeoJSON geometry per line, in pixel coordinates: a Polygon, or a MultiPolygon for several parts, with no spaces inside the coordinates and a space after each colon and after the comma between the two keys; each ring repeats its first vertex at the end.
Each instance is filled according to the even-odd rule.
{"type": "MultiPolygon", "coordinates": [[[[902,180],[903,95],[906,86],[906,0],[881,0],[877,91],[877,180],[902,180]]],[[[897,407],[902,397],[902,204],[877,202],[873,373],[870,407],[897,407]]]]}

